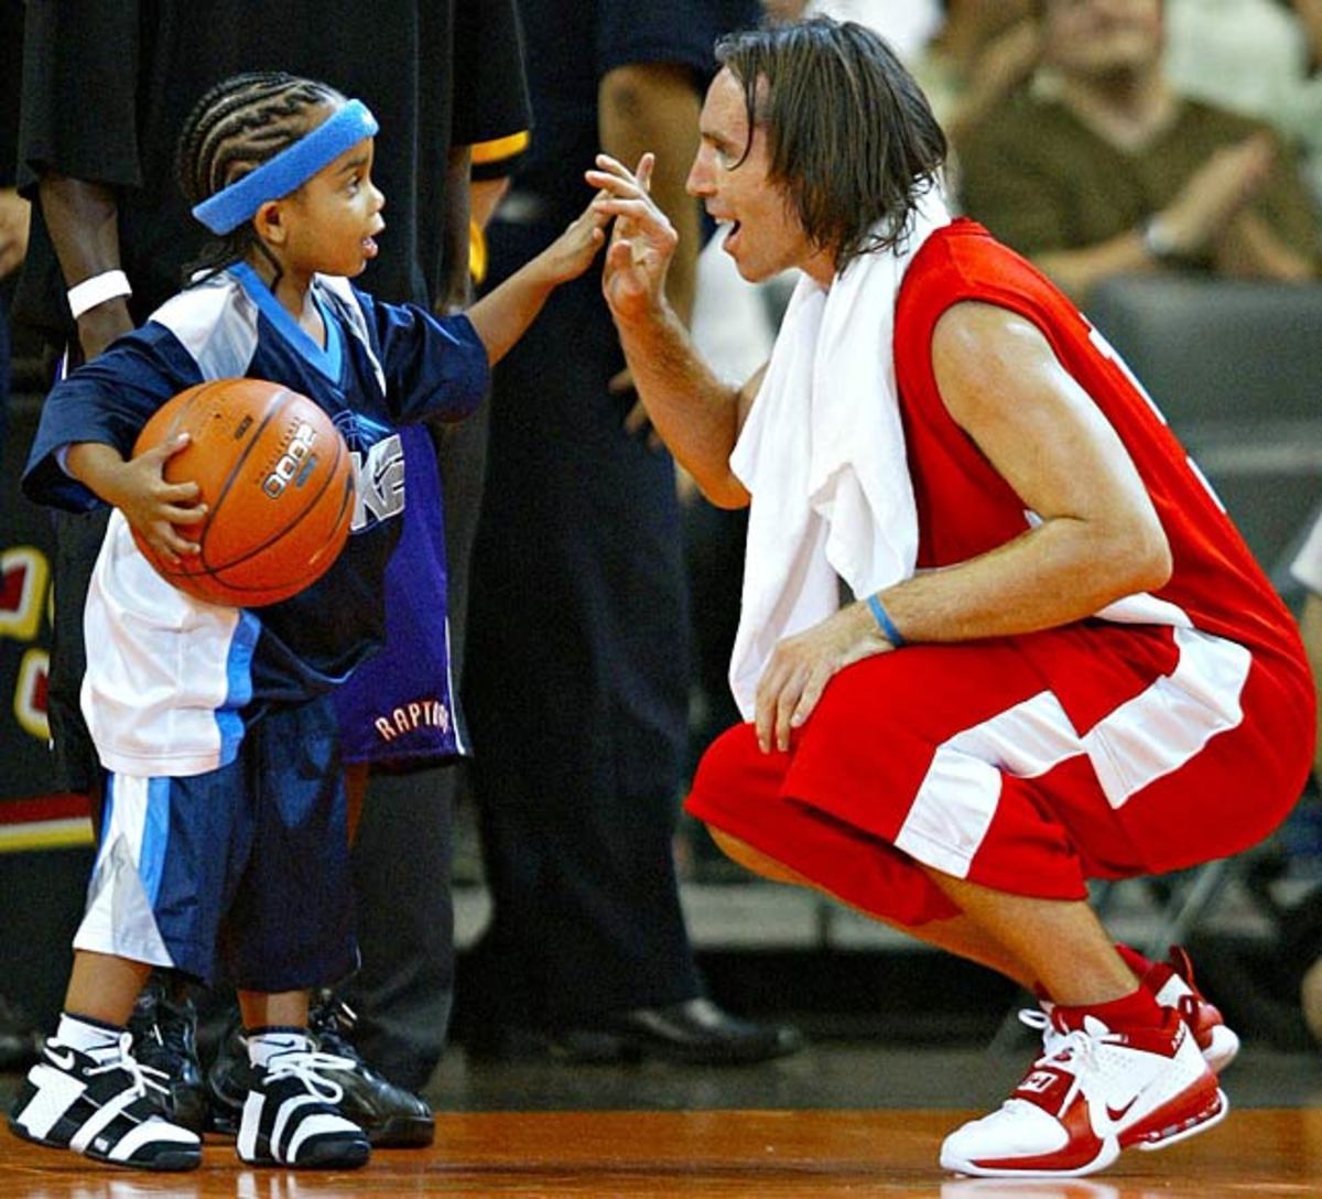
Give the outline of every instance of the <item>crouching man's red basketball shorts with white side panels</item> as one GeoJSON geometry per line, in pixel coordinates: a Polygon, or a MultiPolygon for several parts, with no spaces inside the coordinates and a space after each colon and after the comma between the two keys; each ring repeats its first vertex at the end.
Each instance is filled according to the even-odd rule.
{"type": "Polygon", "coordinates": [[[921,866],[1083,899],[1088,878],[1253,845],[1302,791],[1313,719],[1298,664],[1195,629],[1087,621],[914,645],[836,676],[788,752],[728,730],[686,806],[915,925],[957,911],[921,866]]]}

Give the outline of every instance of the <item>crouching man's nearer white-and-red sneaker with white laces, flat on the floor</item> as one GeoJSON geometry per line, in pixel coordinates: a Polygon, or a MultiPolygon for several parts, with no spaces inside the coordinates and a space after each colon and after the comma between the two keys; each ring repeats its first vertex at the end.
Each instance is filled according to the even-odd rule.
{"type": "Polygon", "coordinates": [[[1170,1009],[1155,1028],[1113,1032],[1084,1014],[1068,1027],[1022,1013],[1043,1030],[1043,1054],[995,1112],[956,1129],[941,1165],[998,1178],[1076,1177],[1122,1149],[1162,1149],[1218,1124],[1229,1104],[1198,1043],[1170,1009]]]}

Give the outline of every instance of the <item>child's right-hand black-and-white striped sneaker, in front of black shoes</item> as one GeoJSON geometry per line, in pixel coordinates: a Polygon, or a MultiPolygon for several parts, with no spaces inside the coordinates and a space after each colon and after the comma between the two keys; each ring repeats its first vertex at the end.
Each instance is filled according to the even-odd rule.
{"type": "Polygon", "coordinates": [[[366,1133],[340,1114],[341,1081],[353,1071],[344,1058],[316,1051],[312,1038],[280,1036],[287,1048],[266,1065],[245,1063],[234,1071],[243,1087],[235,1149],[250,1166],[352,1170],[371,1155],[366,1133]]]}

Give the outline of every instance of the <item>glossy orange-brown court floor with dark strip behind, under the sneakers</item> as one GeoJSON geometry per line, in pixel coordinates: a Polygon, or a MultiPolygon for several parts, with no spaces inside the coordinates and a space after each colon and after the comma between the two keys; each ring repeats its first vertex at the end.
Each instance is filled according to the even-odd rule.
{"type": "MultiPolygon", "coordinates": [[[[0,1196],[886,1196],[886,1199],[1302,1199],[1322,1195],[1322,1058],[1248,1050],[1233,1109],[1161,1153],[1129,1151],[1088,1179],[964,1179],[941,1138],[994,1106],[1027,1055],[826,1042],[767,1065],[469,1065],[448,1054],[427,1096],[428,1150],[378,1150],[344,1174],[250,1170],[209,1138],[201,1170],[149,1175],[89,1163],[0,1130],[0,1196]],[[1023,1058],[1023,1060],[1019,1060],[1023,1058]]],[[[19,1079],[0,1079],[8,1104],[19,1079]]]]}

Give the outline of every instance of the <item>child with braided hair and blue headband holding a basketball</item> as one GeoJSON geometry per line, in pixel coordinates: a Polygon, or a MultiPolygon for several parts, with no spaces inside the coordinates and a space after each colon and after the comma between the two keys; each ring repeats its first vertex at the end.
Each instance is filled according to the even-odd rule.
{"type": "Polygon", "coordinates": [[[246,74],[208,93],[185,124],[180,177],[219,237],[209,272],[42,410],[28,494],[116,510],[87,598],[89,627],[104,635],[87,638],[83,685],[107,771],[104,828],[65,1010],[9,1118],[29,1140],[122,1166],[200,1163],[198,1137],[160,1114],[124,1023],[152,966],[208,980],[219,945],[247,1032],[239,1157],[337,1169],[369,1157],[334,1106],[348,1063],[307,1031],[308,987],[357,957],[330,691],[383,637],[382,579],[406,496],[398,427],[472,411],[490,364],[587,268],[604,225],[590,206],[464,316],[375,303],[349,283],[385,229],[375,132],[366,106],[309,79],[246,74]],[[177,527],[202,516],[197,488],[161,477],[185,439],[128,455],[172,395],[237,375],[311,397],[360,455],[361,486],[391,480],[389,502],[356,514],[334,567],[260,611],[189,599],[131,535],[165,555],[197,553],[177,527]],[[98,719],[98,701],[130,673],[143,705],[98,719]],[[188,744],[173,720],[184,707],[213,718],[188,744]]]}

